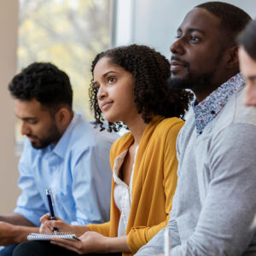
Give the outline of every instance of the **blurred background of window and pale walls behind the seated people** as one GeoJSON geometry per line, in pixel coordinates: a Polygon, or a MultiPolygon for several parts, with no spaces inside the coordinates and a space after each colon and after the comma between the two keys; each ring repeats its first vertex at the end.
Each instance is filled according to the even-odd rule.
{"type": "MultiPolygon", "coordinates": [[[[49,61],[69,75],[77,113],[91,118],[90,63],[102,50],[147,44],[170,59],[169,47],[184,15],[198,0],[9,0],[0,1],[0,214],[12,212],[17,163],[24,137],[15,119],[10,79],[33,61],[49,61]]],[[[227,0],[256,17],[255,0],[227,0]]]]}

